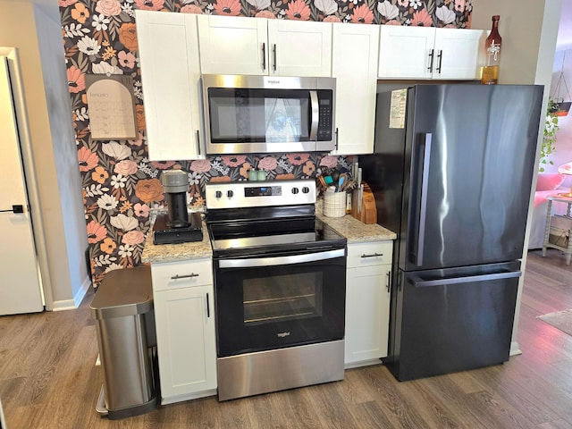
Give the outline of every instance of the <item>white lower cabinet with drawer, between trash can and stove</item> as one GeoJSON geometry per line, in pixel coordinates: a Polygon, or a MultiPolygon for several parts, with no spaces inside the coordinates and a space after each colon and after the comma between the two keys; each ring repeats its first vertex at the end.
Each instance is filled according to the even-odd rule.
{"type": "Polygon", "coordinates": [[[162,404],[216,394],[210,259],[151,265],[162,404]]]}

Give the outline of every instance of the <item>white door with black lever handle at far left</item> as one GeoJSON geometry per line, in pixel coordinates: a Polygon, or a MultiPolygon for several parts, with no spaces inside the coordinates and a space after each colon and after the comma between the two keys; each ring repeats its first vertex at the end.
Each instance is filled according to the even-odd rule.
{"type": "Polygon", "coordinates": [[[14,315],[42,311],[44,306],[8,62],[4,56],[0,59],[0,315],[14,315]],[[18,206],[23,213],[15,213],[18,206]]]}

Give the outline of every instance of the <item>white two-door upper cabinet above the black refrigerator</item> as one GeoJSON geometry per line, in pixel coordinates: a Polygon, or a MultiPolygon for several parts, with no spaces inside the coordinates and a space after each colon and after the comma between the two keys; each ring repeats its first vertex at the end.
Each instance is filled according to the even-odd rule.
{"type": "Polygon", "coordinates": [[[381,26],[381,79],[479,79],[479,52],[486,31],[381,26]]]}

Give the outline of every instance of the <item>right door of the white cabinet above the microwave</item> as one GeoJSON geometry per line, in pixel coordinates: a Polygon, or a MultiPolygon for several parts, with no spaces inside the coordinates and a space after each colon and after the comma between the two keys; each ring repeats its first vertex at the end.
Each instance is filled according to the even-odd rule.
{"type": "Polygon", "coordinates": [[[268,42],[271,75],[332,75],[332,24],[269,20],[268,42]]]}

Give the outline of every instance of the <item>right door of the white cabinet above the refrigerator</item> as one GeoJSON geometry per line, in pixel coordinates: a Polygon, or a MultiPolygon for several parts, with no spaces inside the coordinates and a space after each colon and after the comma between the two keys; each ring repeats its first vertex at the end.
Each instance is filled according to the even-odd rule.
{"type": "Polygon", "coordinates": [[[482,29],[435,29],[433,79],[480,79],[479,55],[485,38],[482,29]]]}

